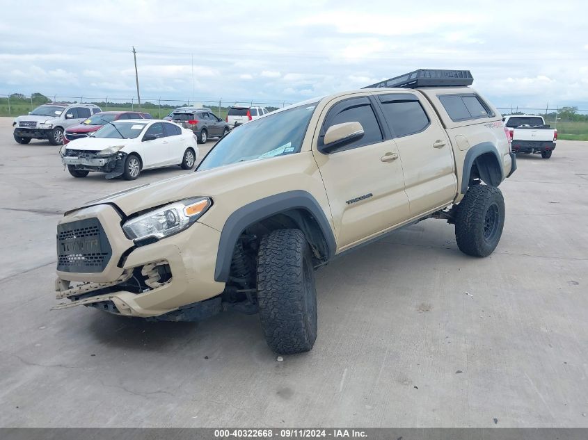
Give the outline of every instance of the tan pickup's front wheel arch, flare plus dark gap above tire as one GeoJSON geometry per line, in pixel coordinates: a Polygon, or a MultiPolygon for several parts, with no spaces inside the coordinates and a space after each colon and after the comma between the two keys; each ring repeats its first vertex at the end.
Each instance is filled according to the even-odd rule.
{"type": "Polygon", "coordinates": [[[229,215],[218,243],[215,281],[228,280],[232,255],[239,236],[246,229],[272,219],[292,222],[289,227],[301,229],[313,250],[319,253],[321,260],[328,261],[335,255],[333,230],[315,197],[303,190],[287,191],[241,206],[229,215]]]}

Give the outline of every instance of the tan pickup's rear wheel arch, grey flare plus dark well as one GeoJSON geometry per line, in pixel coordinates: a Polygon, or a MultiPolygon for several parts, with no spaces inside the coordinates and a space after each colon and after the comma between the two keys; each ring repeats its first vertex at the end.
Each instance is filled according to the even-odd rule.
{"type": "Polygon", "coordinates": [[[463,159],[461,177],[461,194],[465,194],[472,179],[472,169],[476,168],[477,177],[486,185],[499,186],[504,180],[504,170],[498,148],[492,142],[481,142],[474,145],[463,159]]]}

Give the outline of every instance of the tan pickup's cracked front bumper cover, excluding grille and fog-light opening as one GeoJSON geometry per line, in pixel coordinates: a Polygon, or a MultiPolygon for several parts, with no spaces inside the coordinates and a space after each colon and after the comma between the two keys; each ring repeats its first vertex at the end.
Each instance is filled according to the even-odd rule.
{"type": "Polygon", "coordinates": [[[151,243],[135,247],[126,238],[120,227],[120,216],[109,205],[91,206],[68,215],[61,222],[72,222],[84,218],[96,217],[104,227],[112,247],[112,256],[102,272],[74,273],[57,271],[57,298],[63,300],[53,309],[67,309],[77,305],[89,305],[97,302],[113,302],[118,313],[125,316],[150,317],[161,316],[175,311],[187,304],[193,304],[212,298],[223,291],[224,283],[214,281],[214,266],[220,233],[201,223],[194,223],[185,231],[151,243]],[[193,245],[197,243],[197,245],[193,245]],[[127,254],[124,259],[123,254],[127,254]],[[124,263],[120,264],[120,261],[124,263]],[[168,282],[143,293],[116,290],[116,285],[132,277],[134,268],[164,261],[171,271],[168,282]],[[84,282],[81,289],[97,291],[108,286],[109,293],[86,296],[70,301],[70,282],[84,282]]]}

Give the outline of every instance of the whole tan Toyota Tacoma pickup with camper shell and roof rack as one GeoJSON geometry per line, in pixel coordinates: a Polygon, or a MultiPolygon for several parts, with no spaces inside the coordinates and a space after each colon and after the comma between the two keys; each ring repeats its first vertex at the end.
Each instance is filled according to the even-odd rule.
{"type": "Polygon", "coordinates": [[[310,350],[316,268],[426,218],[498,245],[516,169],[468,71],[418,70],[311,99],[223,137],[196,172],[88,202],[57,226],[54,309],[200,320],[260,313],[269,347],[310,350]]]}

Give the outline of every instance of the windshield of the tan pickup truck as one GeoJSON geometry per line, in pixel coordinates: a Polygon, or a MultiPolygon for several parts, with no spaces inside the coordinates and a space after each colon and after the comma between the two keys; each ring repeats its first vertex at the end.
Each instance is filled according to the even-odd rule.
{"type": "Polygon", "coordinates": [[[316,107],[305,104],[241,125],[216,143],[197,170],[299,152],[316,107]]]}

